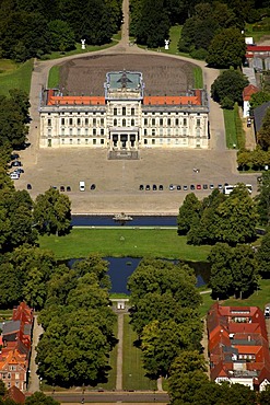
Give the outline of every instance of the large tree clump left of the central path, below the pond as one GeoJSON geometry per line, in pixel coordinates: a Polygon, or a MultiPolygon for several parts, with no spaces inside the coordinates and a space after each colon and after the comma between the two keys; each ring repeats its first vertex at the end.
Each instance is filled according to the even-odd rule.
{"type": "Polygon", "coordinates": [[[45,332],[36,357],[38,373],[47,382],[73,386],[106,381],[108,355],[117,343],[107,265],[90,256],[71,270],[58,267],[51,276],[38,319],[45,332]]]}

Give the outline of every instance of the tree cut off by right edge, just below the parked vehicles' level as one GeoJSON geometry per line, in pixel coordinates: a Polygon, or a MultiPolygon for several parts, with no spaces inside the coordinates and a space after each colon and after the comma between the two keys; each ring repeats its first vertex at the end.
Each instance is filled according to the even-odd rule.
{"type": "Polygon", "coordinates": [[[256,197],[259,222],[270,224],[270,171],[263,172],[259,184],[259,194],[256,197]]]}

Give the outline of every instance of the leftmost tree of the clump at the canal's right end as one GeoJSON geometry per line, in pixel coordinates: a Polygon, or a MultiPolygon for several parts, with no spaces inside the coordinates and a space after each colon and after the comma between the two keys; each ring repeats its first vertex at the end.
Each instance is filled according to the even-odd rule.
{"type": "Polygon", "coordinates": [[[189,193],[179,208],[177,217],[178,234],[187,234],[190,228],[198,223],[201,204],[193,193],[189,193]]]}

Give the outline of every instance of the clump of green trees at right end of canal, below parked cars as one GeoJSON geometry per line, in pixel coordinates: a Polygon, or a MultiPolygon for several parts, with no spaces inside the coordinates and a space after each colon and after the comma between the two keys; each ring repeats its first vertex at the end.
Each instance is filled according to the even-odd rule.
{"type": "Polygon", "coordinates": [[[187,235],[189,244],[225,242],[235,246],[256,238],[257,220],[257,207],[244,184],[228,196],[214,189],[202,201],[190,193],[179,208],[178,234],[187,235]]]}

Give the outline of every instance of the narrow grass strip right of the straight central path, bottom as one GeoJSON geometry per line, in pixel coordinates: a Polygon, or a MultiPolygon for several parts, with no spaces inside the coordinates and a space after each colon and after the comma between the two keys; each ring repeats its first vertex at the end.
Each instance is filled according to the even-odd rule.
{"type": "Polygon", "coordinates": [[[137,334],[129,324],[129,315],[124,316],[124,358],[122,389],[124,390],[156,390],[156,382],[144,377],[141,351],[134,347],[137,334]]]}

